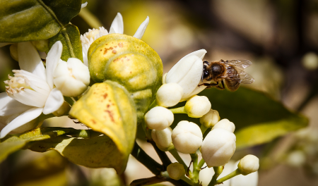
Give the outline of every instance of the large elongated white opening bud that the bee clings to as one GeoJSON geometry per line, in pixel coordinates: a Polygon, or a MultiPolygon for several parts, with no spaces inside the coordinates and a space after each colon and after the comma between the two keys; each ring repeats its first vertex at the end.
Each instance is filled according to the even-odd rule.
{"type": "Polygon", "coordinates": [[[183,89],[181,101],[185,101],[193,95],[199,94],[206,86],[198,85],[201,82],[203,72],[202,59],[206,54],[205,49],[194,51],[180,59],[167,73],[163,82],[176,82],[183,89]]]}

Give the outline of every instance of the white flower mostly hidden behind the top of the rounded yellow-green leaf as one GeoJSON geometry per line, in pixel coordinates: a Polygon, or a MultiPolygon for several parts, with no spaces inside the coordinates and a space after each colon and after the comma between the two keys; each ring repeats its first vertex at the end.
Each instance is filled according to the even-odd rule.
{"type": "MultiPolygon", "coordinates": [[[[134,37],[141,39],[143,37],[143,33],[146,31],[146,27],[149,23],[149,17],[147,16],[146,20],[141,23],[138,30],[136,31],[134,37]]],[[[99,29],[93,28],[93,30],[88,29],[88,32],[81,35],[82,42],[82,51],[83,51],[83,61],[86,66],[88,66],[88,49],[90,48],[90,44],[92,44],[96,39],[108,35],[108,34],[123,34],[124,33],[124,22],[122,20],[122,14],[117,13],[117,16],[112,21],[112,25],[110,25],[110,32],[108,33],[104,27],[100,27],[99,29]]]]}

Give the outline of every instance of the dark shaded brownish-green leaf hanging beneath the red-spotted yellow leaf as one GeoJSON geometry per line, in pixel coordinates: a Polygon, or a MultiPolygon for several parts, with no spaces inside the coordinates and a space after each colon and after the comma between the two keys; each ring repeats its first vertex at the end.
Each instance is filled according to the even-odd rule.
{"type": "Polygon", "coordinates": [[[106,135],[83,139],[78,137],[60,136],[49,140],[33,142],[30,145],[33,151],[58,151],[62,156],[73,163],[90,168],[112,167],[117,173],[126,168],[123,155],[117,144],[106,135]]]}

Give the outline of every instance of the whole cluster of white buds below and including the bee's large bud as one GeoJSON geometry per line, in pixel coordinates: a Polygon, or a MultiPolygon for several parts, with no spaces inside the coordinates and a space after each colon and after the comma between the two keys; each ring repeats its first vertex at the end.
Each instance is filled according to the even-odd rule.
{"type": "MultiPolygon", "coordinates": [[[[205,86],[201,82],[204,49],[184,56],[169,73],[163,76],[163,85],[156,94],[156,104],[145,116],[151,137],[162,151],[175,148],[184,154],[194,154],[200,149],[202,158],[210,167],[224,166],[235,152],[235,125],[228,119],[220,120],[218,111],[211,109],[207,97],[197,96],[205,86]],[[187,101],[182,107],[167,109],[187,101]],[[200,118],[201,128],[196,123],[182,120],[172,130],[174,113],[186,113],[191,118],[200,118]],[[204,138],[204,132],[211,129],[204,138]],[[201,147],[201,148],[200,148],[201,147]]],[[[259,168],[256,156],[245,156],[238,164],[238,174],[247,175],[259,168]]],[[[184,176],[184,166],[172,163],[167,167],[170,178],[179,180],[184,176]]]]}

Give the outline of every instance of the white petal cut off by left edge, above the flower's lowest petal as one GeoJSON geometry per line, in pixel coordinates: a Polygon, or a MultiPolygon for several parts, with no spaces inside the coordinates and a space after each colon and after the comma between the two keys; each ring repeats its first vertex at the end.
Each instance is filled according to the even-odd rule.
{"type": "Polygon", "coordinates": [[[31,106],[21,104],[16,99],[12,99],[6,94],[6,92],[0,93],[0,116],[9,116],[16,113],[23,113],[24,111],[31,109],[31,106]]]}

